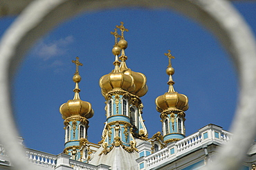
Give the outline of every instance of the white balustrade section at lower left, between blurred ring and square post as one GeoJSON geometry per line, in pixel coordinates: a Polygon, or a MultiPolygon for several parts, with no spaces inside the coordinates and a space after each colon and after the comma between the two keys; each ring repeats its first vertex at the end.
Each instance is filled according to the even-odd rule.
{"type": "Polygon", "coordinates": [[[33,164],[40,165],[42,167],[50,167],[55,168],[56,166],[56,160],[57,156],[50,154],[50,153],[44,153],[41,151],[35,151],[33,149],[26,149],[26,158],[33,164]]]}

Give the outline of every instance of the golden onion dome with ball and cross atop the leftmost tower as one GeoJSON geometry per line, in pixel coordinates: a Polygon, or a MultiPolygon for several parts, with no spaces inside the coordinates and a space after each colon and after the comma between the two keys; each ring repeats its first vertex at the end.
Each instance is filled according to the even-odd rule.
{"type": "Polygon", "coordinates": [[[62,104],[60,106],[60,113],[62,114],[62,118],[65,120],[67,117],[80,115],[82,117],[86,117],[87,119],[93,117],[93,109],[91,108],[91,104],[89,102],[84,102],[80,100],[80,88],[78,83],[81,81],[81,76],[78,73],[78,66],[82,66],[80,62],[78,62],[78,57],[76,61],[72,61],[76,64],[77,70],[75,75],[73,76],[73,81],[75,82],[75,89],[73,90],[75,95],[73,100],[68,100],[68,102],[62,104]]]}

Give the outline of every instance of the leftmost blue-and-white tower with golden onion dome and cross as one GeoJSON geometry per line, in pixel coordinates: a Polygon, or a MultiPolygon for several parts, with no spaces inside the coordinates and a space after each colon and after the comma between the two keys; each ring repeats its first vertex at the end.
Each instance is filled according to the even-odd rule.
{"type": "Polygon", "coordinates": [[[60,113],[64,119],[64,129],[65,129],[65,149],[64,153],[71,155],[73,160],[81,160],[80,156],[80,140],[87,139],[87,129],[89,127],[88,119],[93,117],[93,109],[89,102],[84,102],[80,100],[80,88],[78,83],[81,81],[81,76],[78,72],[78,66],[82,66],[82,63],[76,60],[72,62],[76,65],[75,74],[73,76],[73,81],[75,82],[75,89],[73,90],[75,96],[73,100],[68,100],[68,102],[60,106],[60,113]]]}

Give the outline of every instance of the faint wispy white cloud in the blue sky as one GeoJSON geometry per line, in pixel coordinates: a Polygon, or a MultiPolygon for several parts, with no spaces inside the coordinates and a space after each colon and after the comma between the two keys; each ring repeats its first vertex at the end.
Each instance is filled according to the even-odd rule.
{"type": "Polygon", "coordinates": [[[35,53],[44,61],[58,56],[58,55],[64,55],[66,53],[66,46],[71,44],[73,42],[73,36],[69,35],[68,37],[65,37],[63,39],[58,39],[55,41],[52,41],[50,43],[46,43],[42,41],[39,43],[39,45],[35,48],[35,53]]]}

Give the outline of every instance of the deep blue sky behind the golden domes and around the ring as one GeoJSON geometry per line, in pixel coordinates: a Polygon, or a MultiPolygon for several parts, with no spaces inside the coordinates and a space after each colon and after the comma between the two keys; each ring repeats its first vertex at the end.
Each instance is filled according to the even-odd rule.
{"type": "MultiPolygon", "coordinates": [[[[236,2],[236,8],[256,31],[256,3],[236,2]]],[[[14,18],[0,20],[1,35],[14,18]]],[[[238,97],[237,76],[230,57],[217,39],[198,23],[170,10],[122,8],[87,12],[55,28],[39,39],[20,66],[12,86],[17,126],[26,147],[58,154],[64,149],[64,125],[59,107],[73,99],[72,80],[80,57],[80,97],[91,102],[89,142],[101,140],[106,120],[104,97],[98,81],[113,69],[113,31],[125,23],[127,66],[147,77],[149,91],[141,97],[149,138],[161,131],[154,100],[167,92],[165,69],[172,51],[174,89],[188,96],[186,134],[207,124],[228,130],[238,97]]]]}

